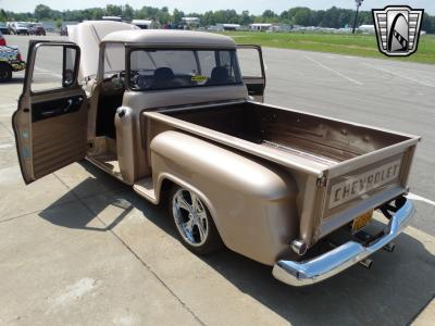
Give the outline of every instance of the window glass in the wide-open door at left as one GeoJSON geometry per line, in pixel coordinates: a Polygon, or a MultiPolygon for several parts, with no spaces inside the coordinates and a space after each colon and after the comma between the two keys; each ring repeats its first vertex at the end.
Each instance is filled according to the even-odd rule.
{"type": "Polygon", "coordinates": [[[74,47],[40,45],[36,50],[32,91],[41,92],[73,86],[77,59],[77,49],[74,47]]]}

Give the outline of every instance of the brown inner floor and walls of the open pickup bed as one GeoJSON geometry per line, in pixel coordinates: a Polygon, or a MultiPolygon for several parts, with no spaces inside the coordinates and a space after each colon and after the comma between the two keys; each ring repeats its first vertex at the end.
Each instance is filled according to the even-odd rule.
{"type": "Polygon", "coordinates": [[[164,114],[262,147],[315,161],[325,168],[410,137],[331,118],[245,102],[164,114]]]}

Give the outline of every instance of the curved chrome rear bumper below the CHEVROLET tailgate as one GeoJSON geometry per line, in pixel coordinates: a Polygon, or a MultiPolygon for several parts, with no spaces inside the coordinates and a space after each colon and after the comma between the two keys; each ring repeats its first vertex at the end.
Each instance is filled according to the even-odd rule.
{"type": "Polygon", "coordinates": [[[385,236],[368,247],[356,241],[348,241],[309,261],[278,261],[273,266],[272,274],[278,280],[296,287],[330,278],[388,244],[407,226],[414,211],[413,202],[408,199],[389,221],[385,236]]]}

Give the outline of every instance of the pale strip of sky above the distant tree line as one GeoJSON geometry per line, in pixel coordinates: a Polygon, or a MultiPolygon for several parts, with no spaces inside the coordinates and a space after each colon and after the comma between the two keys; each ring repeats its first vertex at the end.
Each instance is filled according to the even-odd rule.
{"type": "MultiPolygon", "coordinates": [[[[38,3],[44,3],[52,9],[85,9],[91,7],[105,7],[108,3],[125,4],[128,3],[135,9],[142,5],[169,7],[185,12],[202,13],[208,10],[235,9],[237,12],[249,10],[253,14],[261,14],[266,9],[281,13],[293,7],[309,7],[311,9],[328,9],[333,5],[339,8],[355,8],[353,0],[0,0],[0,8],[15,12],[33,12],[38,3]]],[[[409,4],[415,9],[424,9],[430,14],[435,14],[435,0],[364,0],[361,10],[371,10],[373,8],[384,8],[387,4],[409,4]]]]}

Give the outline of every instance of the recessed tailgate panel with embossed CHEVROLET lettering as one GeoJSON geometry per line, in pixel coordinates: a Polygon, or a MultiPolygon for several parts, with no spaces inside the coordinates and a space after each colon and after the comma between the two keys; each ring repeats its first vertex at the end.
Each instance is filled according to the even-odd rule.
{"type": "Polygon", "coordinates": [[[398,177],[399,172],[400,160],[397,160],[360,175],[350,176],[347,180],[331,188],[330,209],[334,209],[369,190],[388,184],[398,177]]]}

